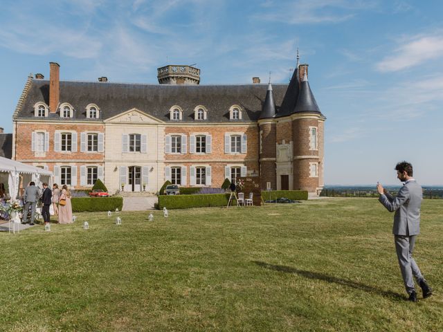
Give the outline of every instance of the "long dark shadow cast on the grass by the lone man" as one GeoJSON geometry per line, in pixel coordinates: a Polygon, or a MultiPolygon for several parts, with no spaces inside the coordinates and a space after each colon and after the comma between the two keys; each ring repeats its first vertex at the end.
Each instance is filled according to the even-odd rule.
{"type": "Polygon", "coordinates": [[[337,278],[332,275],[325,275],[323,273],[298,270],[296,268],[291,268],[289,266],[268,264],[268,263],[264,263],[264,261],[253,261],[253,263],[257,264],[258,266],[261,266],[262,268],[269,268],[269,270],[275,270],[275,271],[280,271],[280,272],[284,272],[284,273],[294,273],[296,275],[301,275],[302,277],[305,277],[305,278],[323,280],[325,282],[330,282],[333,284],[347,286],[347,287],[358,289],[360,291],[365,291],[368,293],[376,293],[376,294],[379,294],[384,297],[393,297],[395,299],[401,299],[401,300],[405,299],[403,296],[401,296],[397,293],[391,292],[391,291],[383,291],[380,288],[368,286],[365,284],[360,284],[359,282],[353,282],[352,280],[337,278]]]}

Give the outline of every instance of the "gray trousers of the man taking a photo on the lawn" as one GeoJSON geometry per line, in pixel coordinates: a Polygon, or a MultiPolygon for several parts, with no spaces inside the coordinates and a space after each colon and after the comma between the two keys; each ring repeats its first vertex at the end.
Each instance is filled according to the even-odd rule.
{"type": "Polygon", "coordinates": [[[424,279],[420,269],[413,259],[413,250],[415,246],[415,238],[417,235],[404,236],[395,235],[395,250],[397,251],[397,258],[399,259],[399,266],[401,270],[401,276],[403,277],[404,286],[408,294],[415,291],[414,280],[417,283],[424,279]]]}

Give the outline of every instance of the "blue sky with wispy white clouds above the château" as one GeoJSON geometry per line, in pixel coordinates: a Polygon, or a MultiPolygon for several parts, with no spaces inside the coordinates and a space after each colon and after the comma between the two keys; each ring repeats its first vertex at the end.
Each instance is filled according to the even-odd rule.
{"type": "Polygon", "coordinates": [[[289,82],[309,64],[325,124],[325,183],[397,184],[408,160],[443,185],[443,1],[2,0],[0,127],[29,73],[156,84],[195,64],[201,84],[289,82]]]}

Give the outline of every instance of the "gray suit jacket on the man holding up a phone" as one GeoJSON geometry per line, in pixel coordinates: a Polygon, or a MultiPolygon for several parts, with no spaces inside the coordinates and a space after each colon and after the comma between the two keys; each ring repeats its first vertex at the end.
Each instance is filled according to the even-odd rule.
{"type": "Polygon", "coordinates": [[[420,232],[420,206],[422,187],[415,180],[408,181],[397,196],[387,193],[379,201],[390,212],[395,211],[392,233],[395,235],[417,235],[420,232]]]}

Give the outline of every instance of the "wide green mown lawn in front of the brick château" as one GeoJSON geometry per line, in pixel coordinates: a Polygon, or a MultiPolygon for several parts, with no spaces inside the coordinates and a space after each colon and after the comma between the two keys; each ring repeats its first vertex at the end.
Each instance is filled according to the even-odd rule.
{"type": "Polygon", "coordinates": [[[422,206],[417,304],[376,199],[119,215],[0,233],[0,331],[442,331],[443,200],[422,206]]]}

